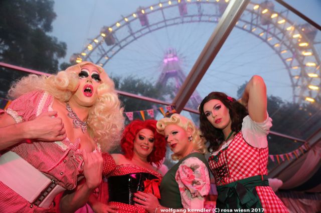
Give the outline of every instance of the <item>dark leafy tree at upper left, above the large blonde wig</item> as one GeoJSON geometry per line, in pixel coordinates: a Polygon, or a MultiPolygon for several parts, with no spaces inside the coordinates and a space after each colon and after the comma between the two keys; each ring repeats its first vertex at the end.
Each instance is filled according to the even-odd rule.
{"type": "MultiPolygon", "coordinates": [[[[0,1],[0,60],[43,72],[58,70],[58,59],[66,55],[67,45],[52,31],[56,18],[53,0],[0,1]]],[[[0,95],[5,96],[9,85],[26,73],[0,70],[0,95]]]]}

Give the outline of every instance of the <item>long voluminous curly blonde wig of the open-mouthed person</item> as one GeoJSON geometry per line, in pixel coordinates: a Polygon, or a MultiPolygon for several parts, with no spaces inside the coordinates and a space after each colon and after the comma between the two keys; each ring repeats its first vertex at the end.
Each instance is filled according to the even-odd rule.
{"type": "Polygon", "coordinates": [[[105,70],[92,62],[83,61],[46,77],[30,74],[17,81],[9,90],[9,97],[15,99],[34,90],[45,90],[62,102],[67,102],[78,86],[78,73],[81,67],[92,64],[100,72],[101,84],[98,86],[96,103],[89,110],[87,130],[97,140],[103,151],[109,151],[120,142],[124,127],[123,108],[115,91],[115,85],[105,70]]]}

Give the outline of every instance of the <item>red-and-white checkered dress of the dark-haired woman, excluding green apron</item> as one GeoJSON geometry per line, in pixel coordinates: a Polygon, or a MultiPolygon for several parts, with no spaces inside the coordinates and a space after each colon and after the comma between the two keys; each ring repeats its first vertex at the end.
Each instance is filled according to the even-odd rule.
{"type": "MultiPolygon", "coordinates": [[[[209,158],[209,167],[216,185],[225,185],[251,176],[267,174],[268,147],[257,148],[248,144],[242,131],[229,145],[209,158]]],[[[270,186],[255,186],[264,212],[288,212],[270,186]]]]}

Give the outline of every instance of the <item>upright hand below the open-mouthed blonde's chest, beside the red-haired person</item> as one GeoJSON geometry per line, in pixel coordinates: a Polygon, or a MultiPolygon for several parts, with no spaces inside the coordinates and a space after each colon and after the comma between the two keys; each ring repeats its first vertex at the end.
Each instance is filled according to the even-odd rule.
{"type": "Polygon", "coordinates": [[[101,152],[87,152],[83,149],[84,176],[89,189],[96,188],[102,179],[103,158],[101,152]]]}

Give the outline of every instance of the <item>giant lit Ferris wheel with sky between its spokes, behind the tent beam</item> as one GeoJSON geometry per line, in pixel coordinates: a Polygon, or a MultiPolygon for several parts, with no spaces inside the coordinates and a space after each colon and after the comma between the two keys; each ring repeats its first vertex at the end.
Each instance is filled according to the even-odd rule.
{"type": "MultiPolygon", "coordinates": [[[[187,75],[227,4],[225,1],[184,1],[184,4],[186,10],[180,10],[182,4],[171,1],[153,4],[154,9],[144,7],[144,14],[140,10],[134,11],[109,25],[107,34],[111,45],[107,43],[107,36],[96,36],[99,42],[91,41],[91,50],[86,47],[82,53],[86,55],[86,60],[117,70],[120,75],[137,74],[144,70],[146,76],[154,79],[153,83],[157,82],[157,77],[164,71],[165,61],[178,60],[176,65],[179,70],[175,71],[187,75]],[[175,53],[173,57],[169,56],[171,51],[175,53]]],[[[261,74],[269,83],[274,83],[273,86],[288,86],[293,97],[300,98],[296,98],[298,102],[306,94],[317,97],[320,92],[311,91],[307,86],[321,86],[321,73],[317,68],[320,65],[317,55],[321,45],[313,45],[313,42],[318,42],[313,38],[313,42],[309,42],[306,47],[299,47],[298,38],[294,36],[307,40],[299,24],[290,20],[286,10],[278,12],[274,7],[268,7],[266,15],[263,14],[263,5],[264,2],[249,3],[205,78],[216,79],[237,88],[234,82],[237,79],[241,81],[249,75],[261,74]],[[249,38],[249,35],[252,37],[249,38]],[[303,50],[311,55],[302,56],[303,50]],[[287,79],[279,84],[270,80],[273,79],[269,78],[271,74],[287,79]],[[318,77],[310,77],[308,74],[316,74],[318,77]],[[220,79],[224,75],[229,76],[229,81],[220,79]]],[[[83,57],[81,55],[78,57],[83,57]]],[[[200,86],[198,89],[205,91],[200,86]]]]}

